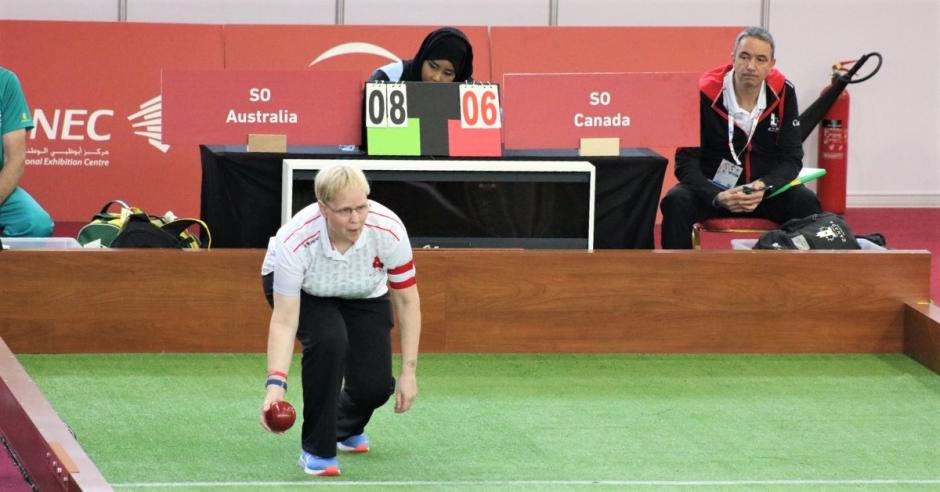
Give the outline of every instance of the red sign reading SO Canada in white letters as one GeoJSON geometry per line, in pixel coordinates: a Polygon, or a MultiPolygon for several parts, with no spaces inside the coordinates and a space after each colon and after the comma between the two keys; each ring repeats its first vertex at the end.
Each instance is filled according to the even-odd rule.
{"type": "Polygon", "coordinates": [[[581,138],[621,147],[699,144],[698,75],[546,73],[503,77],[507,149],[577,148],[581,138]]]}

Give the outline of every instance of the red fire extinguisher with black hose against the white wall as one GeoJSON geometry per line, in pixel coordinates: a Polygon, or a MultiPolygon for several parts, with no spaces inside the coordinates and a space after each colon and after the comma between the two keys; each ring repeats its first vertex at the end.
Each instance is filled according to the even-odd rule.
{"type": "Polygon", "coordinates": [[[832,66],[832,83],[823,89],[823,94],[839,90],[839,95],[826,111],[819,128],[818,165],[826,170],[826,177],[819,180],[816,187],[822,209],[836,214],[845,213],[846,183],[848,181],[849,152],[849,92],[844,90],[848,84],[864,82],[878,73],[881,68],[881,55],[868,53],[858,60],[841,61],[832,66]],[[860,79],[852,80],[870,56],[878,58],[878,66],[872,73],[860,79]],[[854,65],[850,69],[849,65],[854,65]]]}

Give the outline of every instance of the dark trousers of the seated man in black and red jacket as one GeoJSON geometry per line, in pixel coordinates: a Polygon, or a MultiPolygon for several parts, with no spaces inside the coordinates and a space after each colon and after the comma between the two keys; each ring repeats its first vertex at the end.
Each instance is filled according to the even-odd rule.
{"type": "Polygon", "coordinates": [[[713,217],[755,217],[780,224],[821,212],[816,194],[805,186],[790,188],[764,200],[751,213],[732,213],[723,207],[713,207],[682,183],[666,193],[660,209],[663,212],[663,249],[691,249],[692,226],[713,217]]]}

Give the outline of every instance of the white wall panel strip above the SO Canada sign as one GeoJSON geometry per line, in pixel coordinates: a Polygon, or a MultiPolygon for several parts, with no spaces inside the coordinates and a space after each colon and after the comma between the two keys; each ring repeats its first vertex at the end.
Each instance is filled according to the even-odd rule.
{"type": "Polygon", "coordinates": [[[760,21],[761,0],[558,0],[561,26],[759,26],[760,21]]]}

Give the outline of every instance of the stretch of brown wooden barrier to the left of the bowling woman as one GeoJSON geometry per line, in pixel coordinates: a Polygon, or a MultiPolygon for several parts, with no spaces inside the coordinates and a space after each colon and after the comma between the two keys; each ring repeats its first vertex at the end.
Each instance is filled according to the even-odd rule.
{"type": "Polygon", "coordinates": [[[0,253],[15,353],[264,351],[261,250],[0,253]]]}

